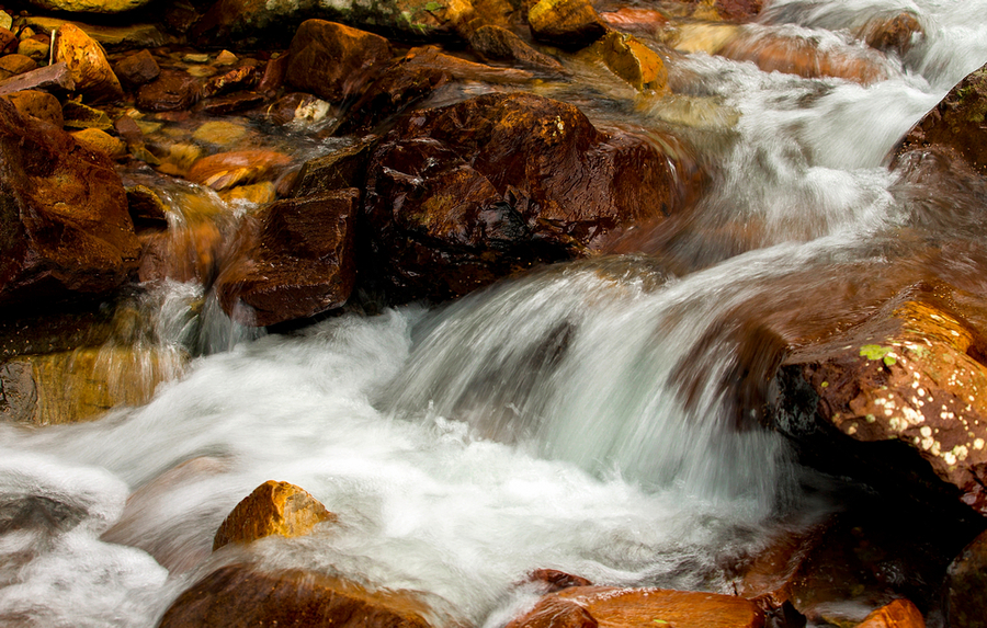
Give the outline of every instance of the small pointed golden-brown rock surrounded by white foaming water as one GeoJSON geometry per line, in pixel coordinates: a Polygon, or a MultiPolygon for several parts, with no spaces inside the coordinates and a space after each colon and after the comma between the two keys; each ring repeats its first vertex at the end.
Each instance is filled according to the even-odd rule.
{"type": "Polygon", "coordinates": [[[243,499],[216,530],[213,550],[230,543],[251,543],[271,535],[305,536],[322,523],[336,521],[305,489],[269,480],[243,499]]]}

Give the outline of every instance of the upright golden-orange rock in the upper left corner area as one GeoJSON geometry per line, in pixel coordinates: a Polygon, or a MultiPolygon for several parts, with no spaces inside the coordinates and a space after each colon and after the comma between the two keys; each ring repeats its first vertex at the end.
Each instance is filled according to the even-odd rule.
{"type": "Polygon", "coordinates": [[[123,88],[106,60],[103,47],[75,24],[66,22],[58,31],[55,60],[65,61],[76,90],[89,102],[113,102],[123,98],[123,88]]]}

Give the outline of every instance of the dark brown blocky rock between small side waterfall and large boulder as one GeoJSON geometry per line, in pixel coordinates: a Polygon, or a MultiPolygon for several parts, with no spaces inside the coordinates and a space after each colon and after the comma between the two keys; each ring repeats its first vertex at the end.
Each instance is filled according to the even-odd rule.
{"type": "Polygon", "coordinates": [[[359,198],[347,189],[264,207],[241,230],[238,252],[216,281],[224,310],[260,327],[345,304],[356,274],[359,198]]]}

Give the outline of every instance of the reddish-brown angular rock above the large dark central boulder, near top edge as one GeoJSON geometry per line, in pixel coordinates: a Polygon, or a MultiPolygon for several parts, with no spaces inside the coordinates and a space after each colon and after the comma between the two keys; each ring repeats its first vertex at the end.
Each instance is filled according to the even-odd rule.
{"type": "Polygon", "coordinates": [[[285,82],[336,103],[359,94],[390,60],[384,37],[325,20],[302,23],[288,50],[285,82]]]}

